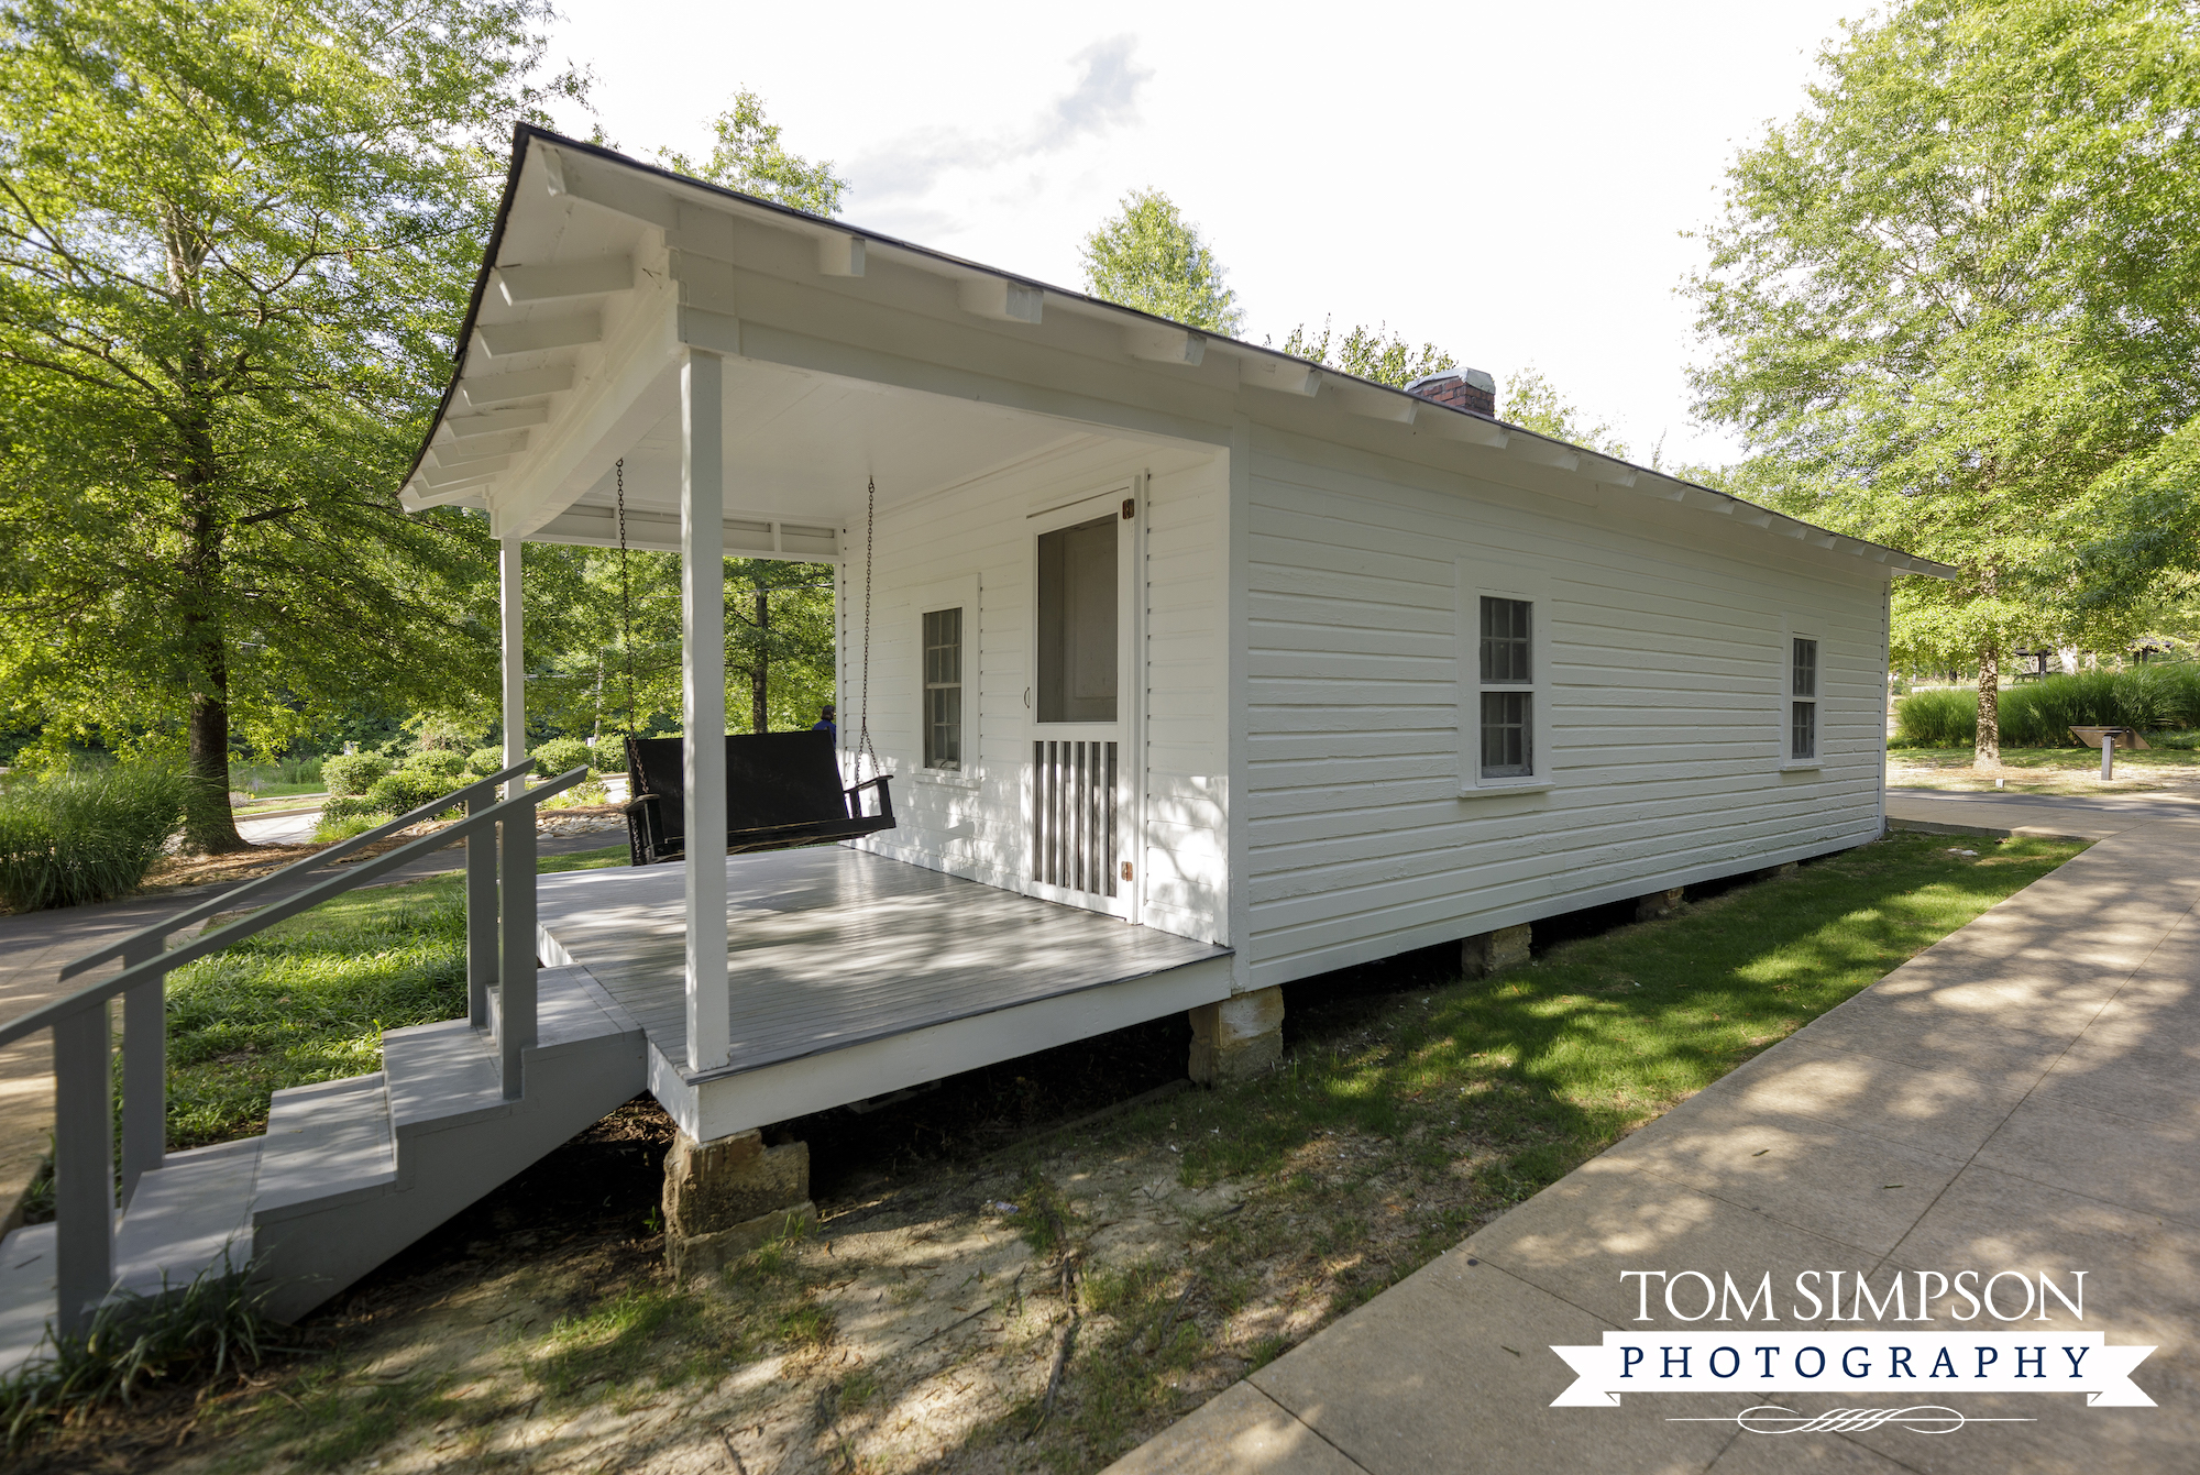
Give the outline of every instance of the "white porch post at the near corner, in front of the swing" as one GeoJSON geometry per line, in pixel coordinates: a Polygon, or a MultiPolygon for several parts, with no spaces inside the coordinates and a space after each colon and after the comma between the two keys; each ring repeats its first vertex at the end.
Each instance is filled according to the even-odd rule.
{"type": "Polygon", "coordinates": [[[680,654],[686,718],[689,1070],[730,1059],[726,988],[726,434],[724,361],[680,370],[680,654]]]}

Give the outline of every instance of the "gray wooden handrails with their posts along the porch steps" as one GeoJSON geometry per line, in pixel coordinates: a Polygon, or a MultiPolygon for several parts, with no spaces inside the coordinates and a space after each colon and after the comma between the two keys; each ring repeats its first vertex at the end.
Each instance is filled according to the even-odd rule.
{"type": "Polygon", "coordinates": [[[0,1044],[22,1039],[42,1028],[53,1030],[53,1191],[55,1191],[55,1330],[81,1334],[92,1310],[114,1283],[114,1121],[112,1121],[112,1055],[106,1004],[123,999],[123,1204],[145,1171],[158,1169],[165,1154],[167,1114],[167,1008],[165,980],[187,962],[310,911],[312,907],[385,876],[411,861],[466,841],[466,993],[475,1028],[488,1026],[497,1046],[497,1070],[504,1096],[524,1094],[526,1052],[535,1048],[535,808],[581,779],[587,768],[572,768],[548,784],[526,788],[502,801],[491,801],[495,784],[517,779],[530,764],[458,788],[425,804],[378,830],[332,845],[319,856],[286,865],[273,876],[249,881],[222,896],[200,903],[183,916],[145,927],[97,953],[77,960],[66,973],[103,958],[121,955],[123,969],[62,999],[42,1004],[4,1026],[0,1044]],[[367,861],[352,863],[343,874],[273,900],[227,927],[202,931],[183,947],[163,951],[172,931],[200,916],[235,907],[238,900],[264,894],[282,876],[306,865],[374,843],[407,823],[418,823],[453,804],[466,806],[466,817],[422,834],[367,861]],[[477,848],[475,841],[502,837],[502,843],[477,848]],[[480,916],[488,914],[488,916],[480,916]],[[491,955],[493,953],[493,955],[491,955]],[[499,1008],[488,1008],[488,991],[502,995],[499,1008]]]}

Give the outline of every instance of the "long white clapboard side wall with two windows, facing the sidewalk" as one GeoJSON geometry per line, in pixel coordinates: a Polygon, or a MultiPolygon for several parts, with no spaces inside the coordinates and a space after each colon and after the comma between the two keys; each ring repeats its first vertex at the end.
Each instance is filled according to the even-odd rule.
{"type": "Polygon", "coordinates": [[[1877,834],[1879,566],[1276,431],[1252,445],[1234,815],[1252,984],[1877,834]],[[1459,795],[1459,559],[1547,590],[1549,793],[1459,795]],[[1819,641],[1817,771],[1782,771],[1784,619],[1819,641]]]}

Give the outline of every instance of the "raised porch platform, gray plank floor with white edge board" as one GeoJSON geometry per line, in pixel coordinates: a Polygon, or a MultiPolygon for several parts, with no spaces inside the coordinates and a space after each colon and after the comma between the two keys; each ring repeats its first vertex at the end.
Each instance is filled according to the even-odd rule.
{"type": "Polygon", "coordinates": [[[647,1032],[708,1140],[1230,997],[1230,949],[847,845],[726,856],[722,1066],[689,1063],[686,874],[543,876],[543,962],[647,1032]]]}

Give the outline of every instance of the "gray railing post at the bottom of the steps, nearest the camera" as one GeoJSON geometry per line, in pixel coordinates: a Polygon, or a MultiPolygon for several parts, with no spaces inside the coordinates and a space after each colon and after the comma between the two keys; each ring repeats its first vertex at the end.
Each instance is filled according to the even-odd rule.
{"type": "Polygon", "coordinates": [[[114,1286],[114,1088],[106,1002],[53,1021],[55,1330],[81,1336],[114,1286]]]}

